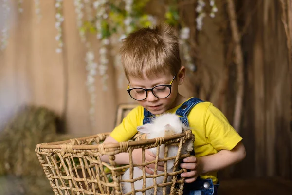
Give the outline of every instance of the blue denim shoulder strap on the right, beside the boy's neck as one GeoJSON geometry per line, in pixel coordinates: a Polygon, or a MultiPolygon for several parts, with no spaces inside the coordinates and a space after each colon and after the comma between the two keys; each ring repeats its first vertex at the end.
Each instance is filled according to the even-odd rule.
{"type": "Polygon", "coordinates": [[[189,126],[187,115],[189,114],[190,110],[200,102],[204,102],[204,101],[199,98],[191,98],[188,101],[185,101],[183,105],[181,105],[181,107],[177,109],[175,114],[181,116],[180,119],[183,124],[185,124],[186,126],[189,126]]]}

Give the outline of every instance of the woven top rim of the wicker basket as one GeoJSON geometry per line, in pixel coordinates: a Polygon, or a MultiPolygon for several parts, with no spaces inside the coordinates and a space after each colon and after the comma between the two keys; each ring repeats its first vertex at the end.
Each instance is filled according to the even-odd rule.
{"type": "MultiPolygon", "coordinates": [[[[94,137],[98,137],[98,135],[109,135],[110,132],[107,133],[100,133],[96,134],[93,136],[88,136],[88,137],[80,137],[80,138],[75,138],[77,140],[84,140],[84,139],[91,139],[94,137]]],[[[146,140],[139,140],[139,141],[123,141],[123,142],[118,142],[118,143],[101,143],[101,144],[96,144],[96,145],[71,145],[73,150],[87,150],[87,149],[99,149],[100,147],[106,149],[106,148],[117,148],[121,147],[122,145],[125,145],[127,143],[128,146],[138,146],[138,145],[144,145],[144,144],[152,144],[156,143],[157,140],[162,139],[163,142],[169,141],[171,139],[177,139],[181,138],[184,136],[187,136],[188,134],[193,134],[192,130],[186,130],[183,133],[180,134],[175,134],[171,136],[165,136],[165,137],[157,137],[153,139],[146,139],[146,140]],[[188,133],[190,132],[190,133],[188,133]]],[[[57,141],[57,142],[50,142],[50,143],[40,143],[37,144],[37,148],[39,149],[62,149],[62,144],[69,143],[71,139],[64,140],[64,141],[57,141]]]]}

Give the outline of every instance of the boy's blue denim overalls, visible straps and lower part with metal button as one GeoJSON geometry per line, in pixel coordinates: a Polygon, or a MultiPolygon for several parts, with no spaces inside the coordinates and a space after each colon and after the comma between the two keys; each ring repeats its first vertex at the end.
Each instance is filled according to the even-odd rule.
{"type": "MultiPolygon", "coordinates": [[[[198,98],[191,98],[184,102],[183,105],[176,111],[176,115],[180,116],[181,121],[189,126],[187,115],[190,110],[198,103],[203,102],[198,98]]],[[[144,119],[143,124],[150,123],[155,117],[148,110],[144,109],[144,119]]],[[[192,152],[195,155],[195,152],[192,152]]],[[[217,195],[218,185],[213,185],[212,179],[201,179],[198,177],[193,183],[184,183],[183,195],[217,195]]]]}

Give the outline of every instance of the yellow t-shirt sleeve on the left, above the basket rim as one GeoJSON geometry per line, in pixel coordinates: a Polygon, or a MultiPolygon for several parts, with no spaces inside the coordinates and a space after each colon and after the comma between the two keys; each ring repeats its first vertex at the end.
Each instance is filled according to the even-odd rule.
{"type": "Polygon", "coordinates": [[[143,117],[143,107],[137,106],[114,128],[110,136],[117,142],[128,141],[137,133],[137,127],[142,125],[143,117]]]}

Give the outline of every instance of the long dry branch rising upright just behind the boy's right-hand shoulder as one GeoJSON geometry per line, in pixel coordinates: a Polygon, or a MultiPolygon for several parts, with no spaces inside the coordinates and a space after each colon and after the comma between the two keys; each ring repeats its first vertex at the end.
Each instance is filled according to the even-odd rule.
{"type": "Polygon", "coordinates": [[[235,43],[235,63],[237,65],[237,95],[233,117],[233,126],[235,130],[239,132],[244,94],[243,55],[241,50],[241,37],[237,26],[235,6],[233,0],[227,0],[227,12],[230,20],[232,39],[235,43]]]}

